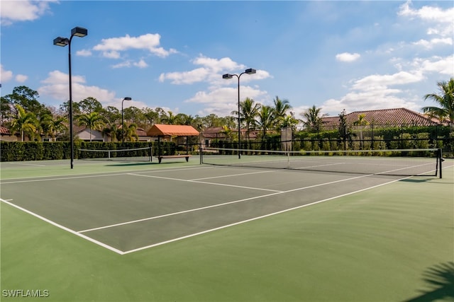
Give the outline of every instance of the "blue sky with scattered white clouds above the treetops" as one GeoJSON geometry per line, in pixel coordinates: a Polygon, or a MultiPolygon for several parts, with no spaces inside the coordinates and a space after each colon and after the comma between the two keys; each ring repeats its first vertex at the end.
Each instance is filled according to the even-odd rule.
{"type": "Polygon", "coordinates": [[[41,103],[231,115],[240,98],[287,99],[297,117],[382,108],[421,112],[454,76],[453,1],[4,1],[1,95],[16,86],[41,103]]]}

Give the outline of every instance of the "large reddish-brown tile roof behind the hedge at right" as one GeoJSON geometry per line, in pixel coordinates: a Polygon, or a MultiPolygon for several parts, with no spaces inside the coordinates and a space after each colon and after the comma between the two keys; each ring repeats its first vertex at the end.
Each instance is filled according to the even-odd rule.
{"type": "MultiPolygon", "coordinates": [[[[435,120],[422,115],[418,112],[408,110],[406,108],[381,109],[381,110],[366,110],[355,111],[345,115],[347,124],[353,124],[358,120],[359,115],[365,115],[364,120],[370,124],[437,124],[435,120]]],[[[339,117],[322,117],[323,126],[337,126],[339,117]]]]}

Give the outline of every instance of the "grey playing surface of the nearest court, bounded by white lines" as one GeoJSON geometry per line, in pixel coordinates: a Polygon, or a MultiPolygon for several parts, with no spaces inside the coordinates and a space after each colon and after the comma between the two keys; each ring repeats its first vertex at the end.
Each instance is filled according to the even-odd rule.
{"type": "MultiPolygon", "coordinates": [[[[306,167],[311,168],[337,168],[345,166],[346,161],[341,158],[333,163],[321,158],[314,165],[314,160],[309,159],[306,167]]],[[[240,161],[248,162],[245,158],[240,161]]],[[[436,161],[432,159],[430,163],[436,161]]],[[[36,164],[39,168],[54,163],[36,164]]],[[[125,164],[118,163],[118,166],[125,167],[125,164]]],[[[401,165],[392,159],[378,162],[375,158],[372,166],[382,170],[370,174],[243,166],[188,165],[165,169],[154,166],[148,170],[2,180],[1,199],[123,255],[403,178],[384,175],[389,171],[402,171],[401,165]]],[[[140,165],[143,167],[146,165],[140,165]]],[[[435,165],[431,165],[431,172],[433,169],[436,170],[435,165]]]]}

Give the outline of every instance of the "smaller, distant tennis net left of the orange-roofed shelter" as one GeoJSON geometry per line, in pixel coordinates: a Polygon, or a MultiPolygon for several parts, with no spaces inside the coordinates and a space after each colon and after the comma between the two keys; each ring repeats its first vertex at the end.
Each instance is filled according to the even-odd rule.
{"type": "Polygon", "coordinates": [[[78,158],[99,161],[151,161],[151,147],[119,150],[79,149],[78,158]]]}

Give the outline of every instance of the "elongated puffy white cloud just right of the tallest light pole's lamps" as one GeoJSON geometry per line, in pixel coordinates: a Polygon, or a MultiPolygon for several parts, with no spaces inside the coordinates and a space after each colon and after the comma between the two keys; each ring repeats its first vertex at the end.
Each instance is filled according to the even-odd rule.
{"type": "Polygon", "coordinates": [[[93,50],[101,51],[104,57],[118,59],[120,57],[119,52],[125,50],[148,50],[151,54],[155,54],[157,57],[167,57],[170,54],[177,53],[177,50],[170,49],[165,50],[160,47],[159,34],[145,34],[138,37],[131,37],[125,35],[124,37],[111,37],[108,39],[101,40],[101,43],[95,45],[93,50]]]}

